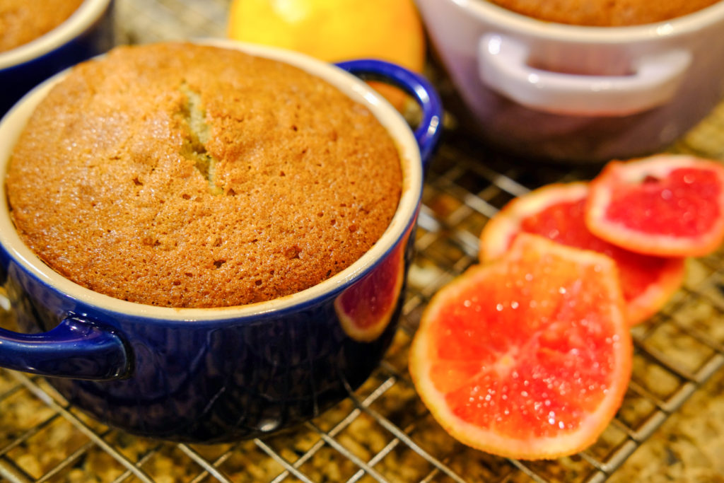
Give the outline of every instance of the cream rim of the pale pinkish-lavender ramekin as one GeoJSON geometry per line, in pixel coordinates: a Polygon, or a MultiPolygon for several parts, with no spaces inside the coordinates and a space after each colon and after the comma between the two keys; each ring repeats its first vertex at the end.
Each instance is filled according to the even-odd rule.
{"type": "MultiPolygon", "coordinates": [[[[439,1],[439,0],[432,0],[439,1]]],[[[522,35],[571,43],[631,43],[651,41],[697,30],[721,22],[724,25],[724,1],[718,1],[691,14],[664,22],[627,27],[587,27],[544,22],[512,12],[486,0],[447,0],[473,16],[522,35]]]]}

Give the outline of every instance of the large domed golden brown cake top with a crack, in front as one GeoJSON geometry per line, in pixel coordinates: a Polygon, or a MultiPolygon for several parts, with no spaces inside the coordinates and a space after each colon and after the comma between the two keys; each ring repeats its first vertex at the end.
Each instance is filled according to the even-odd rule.
{"type": "Polygon", "coordinates": [[[188,43],[119,47],[35,110],[12,218],[80,285],[233,306],[316,285],[382,235],[402,185],[373,114],[295,67],[188,43]]]}

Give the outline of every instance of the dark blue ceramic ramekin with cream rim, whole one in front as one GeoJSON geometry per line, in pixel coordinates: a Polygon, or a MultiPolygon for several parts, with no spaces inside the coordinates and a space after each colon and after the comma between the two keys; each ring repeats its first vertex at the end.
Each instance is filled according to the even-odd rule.
{"type": "MultiPolygon", "coordinates": [[[[294,426],[370,376],[397,327],[424,165],[442,130],[434,88],[395,64],[334,66],[269,47],[206,43],[293,64],[366,105],[399,147],[403,193],[382,238],[348,269],[284,298],[227,308],[146,306],[76,285],[22,243],[2,203],[0,282],[22,326],[38,333],[0,329],[0,366],[46,375],[72,404],[113,427],[185,442],[240,440],[294,426]],[[423,113],[416,131],[357,76],[384,79],[416,98],[423,113]],[[335,301],[345,294],[350,303],[356,293],[353,305],[370,303],[374,293],[357,290],[360,284],[400,273],[387,324],[371,337],[345,329],[335,301]]],[[[28,93],[0,122],[0,173],[25,119],[60,76],[28,93]]]]}

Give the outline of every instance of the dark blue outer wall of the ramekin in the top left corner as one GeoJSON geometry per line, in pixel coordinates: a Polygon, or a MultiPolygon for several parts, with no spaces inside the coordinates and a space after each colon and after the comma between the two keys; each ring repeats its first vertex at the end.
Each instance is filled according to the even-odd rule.
{"type": "Polygon", "coordinates": [[[0,116],[56,72],[108,51],[114,43],[113,12],[111,1],[101,17],[72,41],[28,62],[0,69],[0,116]]]}

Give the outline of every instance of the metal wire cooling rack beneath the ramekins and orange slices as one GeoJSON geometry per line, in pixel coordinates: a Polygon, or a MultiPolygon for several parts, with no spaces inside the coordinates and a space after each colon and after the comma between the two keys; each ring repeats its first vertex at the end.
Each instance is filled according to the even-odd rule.
{"type": "MultiPolygon", "coordinates": [[[[223,35],[227,8],[225,0],[117,0],[119,42],[223,35]]],[[[445,80],[438,85],[444,95],[450,92],[445,80]]],[[[724,106],[672,150],[724,159],[724,106]]],[[[599,441],[578,455],[526,462],[466,448],[437,425],[411,385],[407,351],[421,312],[442,285],[475,263],[487,219],[514,196],[548,182],[589,179],[596,169],[512,161],[487,151],[448,119],[426,180],[403,321],[363,387],[284,434],[184,445],[104,427],[68,405],[43,378],[0,370],[0,480],[602,482],[664,473],[682,481],[714,480],[724,472],[724,418],[710,417],[712,408],[724,405],[718,393],[724,388],[723,253],[692,260],[684,287],[659,314],[634,327],[633,379],[623,406],[599,441]],[[707,379],[718,386],[707,389],[707,379]],[[687,404],[698,406],[682,412],[690,398],[687,404]],[[691,419],[679,420],[685,416],[691,419]],[[632,455],[641,455],[635,465],[628,461],[636,459],[632,455]]],[[[2,297],[0,305],[0,324],[7,325],[12,311],[2,297]]]]}

